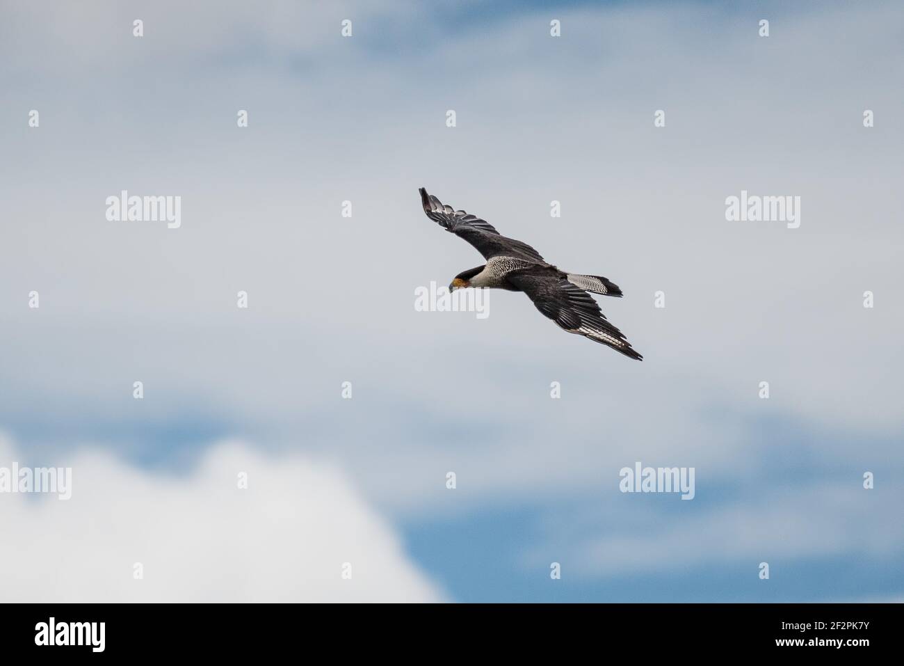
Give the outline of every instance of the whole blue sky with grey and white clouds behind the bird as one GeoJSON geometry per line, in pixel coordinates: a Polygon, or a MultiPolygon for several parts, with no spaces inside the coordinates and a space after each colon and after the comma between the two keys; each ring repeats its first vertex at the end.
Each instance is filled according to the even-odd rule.
{"type": "Polygon", "coordinates": [[[0,467],[73,473],[0,494],[0,595],[904,595],[899,4],[0,18],[0,467]],[[416,310],[480,263],[419,186],[616,281],[645,361],[523,294],[416,310]],[[122,190],[181,196],[180,228],[108,221],[122,190]],[[799,196],[799,228],[726,220],[742,190],[799,196]],[[694,499],[623,494],[636,461],[694,468],[694,499]]]}

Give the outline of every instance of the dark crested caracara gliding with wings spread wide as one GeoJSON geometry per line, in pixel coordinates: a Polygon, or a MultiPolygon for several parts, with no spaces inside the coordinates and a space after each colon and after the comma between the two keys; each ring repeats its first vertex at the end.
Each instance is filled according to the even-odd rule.
{"type": "Polygon", "coordinates": [[[527,243],[506,238],[476,215],[444,205],[423,187],[420,202],[431,220],[471,243],[486,260],[483,266],[458,273],[449,291],[466,287],[523,291],[537,309],[569,333],[612,347],[626,357],[644,359],[588,293],[620,298],[617,284],[598,275],[560,271],[527,243]]]}

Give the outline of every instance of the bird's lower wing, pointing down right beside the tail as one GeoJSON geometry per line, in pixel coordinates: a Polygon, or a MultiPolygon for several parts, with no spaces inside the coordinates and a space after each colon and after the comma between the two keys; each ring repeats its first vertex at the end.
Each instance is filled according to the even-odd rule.
{"type": "Polygon", "coordinates": [[[532,269],[513,271],[506,279],[521,288],[537,309],[569,333],[612,347],[626,357],[644,360],[624,334],[607,321],[597,301],[570,281],[550,271],[532,269]]]}

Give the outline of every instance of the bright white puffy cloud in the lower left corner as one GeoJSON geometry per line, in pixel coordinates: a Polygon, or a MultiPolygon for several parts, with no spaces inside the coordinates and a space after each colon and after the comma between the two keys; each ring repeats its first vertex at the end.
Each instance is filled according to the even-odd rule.
{"type": "MultiPolygon", "coordinates": [[[[0,439],[0,466],[12,461],[25,464],[0,439]]],[[[66,464],[68,501],[0,494],[2,601],[444,599],[391,526],[329,465],[266,458],[237,442],[213,447],[178,478],[99,452],[66,464]],[[240,471],[247,490],[237,487],[240,471]],[[136,562],[142,580],[133,577],[136,562]]]]}

